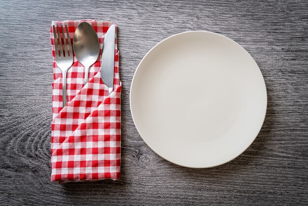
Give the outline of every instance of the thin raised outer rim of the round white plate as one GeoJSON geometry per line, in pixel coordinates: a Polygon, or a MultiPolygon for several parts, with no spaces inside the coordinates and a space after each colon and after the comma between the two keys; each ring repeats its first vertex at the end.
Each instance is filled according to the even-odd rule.
{"type": "Polygon", "coordinates": [[[236,43],[238,46],[241,47],[242,50],[244,50],[249,56],[250,58],[255,62],[255,60],[253,59],[253,57],[247,52],[247,50],[242,47],[239,43],[237,43],[236,41],[232,40],[231,38],[227,37],[227,36],[224,36],[222,34],[217,34],[215,32],[209,32],[209,31],[202,31],[202,30],[195,30],[195,31],[186,31],[186,32],[181,32],[181,33],[177,33],[177,34],[173,34],[171,36],[168,36],[167,38],[164,38],[163,40],[159,41],[158,43],[156,43],[147,53],[146,55],[142,58],[142,60],[140,61],[140,63],[138,64],[135,72],[134,72],[134,75],[133,75],[133,78],[131,80],[131,83],[130,83],[130,89],[129,89],[129,109],[130,109],[130,114],[131,114],[131,117],[133,119],[133,122],[134,122],[134,125],[135,125],[135,128],[137,129],[137,132],[139,133],[140,137],[142,138],[142,140],[148,145],[148,147],[150,147],[150,149],[152,149],[152,151],[154,151],[159,157],[163,158],[164,160],[172,163],[172,164],[175,164],[175,165],[178,165],[178,166],[181,166],[181,167],[185,167],[185,168],[191,168],[191,169],[207,169],[207,168],[214,168],[214,167],[217,167],[217,166],[220,166],[220,165],[224,165],[228,162],[231,162],[232,160],[236,159],[237,157],[239,157],[241,154],[243,154],[250,146],[251,144],[255,141],[256,137],[258,137],[262,127],[263,127],[263,124],[264,124],[264,121],[265,121],[265,117],[266,117],[266,113],[267,113],[267,104],[268,104],[268,95],[267,95],[267,87],[266,87],[266,83],[265,83],[265,80],[264,80],[264,76],[262,74],[262,71],[261,69],[259,68],[258,64],[255,62],[257,68],[259,69],[261,75],[262,75],[262,79],[263,79],[263,83],[264,83],[264,88],[265,88],[265,101],[266,101],[266,104],[265,104],[265,110],[264,110],[264,114],[263,114],[263,120],[262,120],[262,124],[260,125],[260,128],[258,130],[258,133],[256,134],[256,136],[254,138],[252,138],[251,142],[249,143],[249,145],[243,150],[240,152],[239,155],[237,155],[236,157],[233,157],[223,163],[219,163],[219,164],[216,164],[216,165],[213,165],[213,166],[210,166],[210,167],[191,167],[191,166],[185,166],[185,165],[181,165],[181,164],[178,164],[178,163],[175,163],[171,160],[168,160],[166,159],[165,157],[163,157],[162,155],[160,155],[158,152],[156,152],[149,144],[148,142],[142,137],[142,135],[140,134],[139,132],[139,129],[136,125],[136,122],[135,122],[135,118],[134,118],[134,115],[133,115],[133,112],[132,112],[132,109],[131,109],[131,92],[132,92],[132,85],[133,85],[133,82],[134,82],[134,79],[135,79],[135,76],[136,76],[136,73],[138,71],[138,69],[140,68],[140,65],[142,64],[142,62],[146,59],[146,57],[151,53],[152,50],[154,50],[155,47],[157,47],[158,45],[160,45],[161,43],[163,43],[164,41],[170,39],[170,38],[174,38],[175,36],[177,35],[182,35],[182,34],[187,34],[187,33],[207,33],[207,34],[214,34],[214,35],[219,35],[223,38],[226,38],[227,40],[229,41],[232,41],[233,43],[236,43]]]}

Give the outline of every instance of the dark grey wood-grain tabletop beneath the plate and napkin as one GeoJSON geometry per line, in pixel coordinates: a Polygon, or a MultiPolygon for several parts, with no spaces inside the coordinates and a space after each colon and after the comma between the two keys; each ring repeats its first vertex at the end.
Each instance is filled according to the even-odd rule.
{"type": "Polygon", "coordinates": [[[308,205],[308,1],[1,0],[0,205],[308,205]],[[52,20],[115,22],[121,52],[122,168],[118,181],[50,182],[52,20]],[[264,125],[235,160],[186,169],[139,136],[129,88],[159,41],[191,30],[223,34],[261,69],[264,125]]]}

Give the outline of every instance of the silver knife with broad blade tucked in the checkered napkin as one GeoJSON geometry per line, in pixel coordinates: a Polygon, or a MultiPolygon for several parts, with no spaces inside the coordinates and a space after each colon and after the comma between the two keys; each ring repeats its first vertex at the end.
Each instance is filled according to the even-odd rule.
{"type": "Polygon", "coordinates": [[[113,91],[113,79],[115,71],[115,37],[116,26],[109,27],[103,43],[103,52],[101,58],[101,79],[109,87],[109,94],[113,91]]]}

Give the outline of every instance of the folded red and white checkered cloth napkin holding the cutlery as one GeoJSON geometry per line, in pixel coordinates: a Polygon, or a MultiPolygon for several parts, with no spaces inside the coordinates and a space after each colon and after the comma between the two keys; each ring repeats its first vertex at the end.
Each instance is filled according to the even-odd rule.
{"type": "MultiPolygon", "coordinates": [[[[117,39],[114,91],[109,95],[108,87],[100,78],[100,65],[104,36],[113,23],[87,21],[97,32],[100,55],[89,70],[89,82],[86,85],[85,69],[74,57],[74,64],[67,72],[67,104],[63,108],[62,72],[56,65],[51,28],[54,60],[51,181],[59,183],[120,178],[121,81],[117,39]]],[[[73,42],[74,32],[80,22],[53,22],[52,25],[67,25],[73,42]]]]}

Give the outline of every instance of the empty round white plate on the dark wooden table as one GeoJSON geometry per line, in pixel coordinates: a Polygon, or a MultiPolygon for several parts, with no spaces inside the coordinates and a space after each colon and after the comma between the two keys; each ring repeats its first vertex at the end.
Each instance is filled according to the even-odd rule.
{"type": "Polygon", "coordinates": [[[209,168],[258,135],[267,94],[260,69],[235,41],[211,32],[170,36],[142,59],[130,88],[133,121],[162,158],[209,168]]]}

